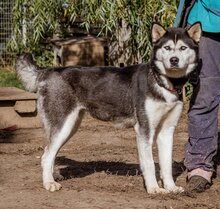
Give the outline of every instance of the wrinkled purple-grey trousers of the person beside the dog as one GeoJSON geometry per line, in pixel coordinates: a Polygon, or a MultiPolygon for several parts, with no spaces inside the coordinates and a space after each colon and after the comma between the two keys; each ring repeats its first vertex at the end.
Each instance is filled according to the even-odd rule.
{"type": "Polygon", "coordinates": [[[212,172],[213,157],[218,148],[220,34],[215,38],[202,37],[200,58],[199,83],[194,89],[188,112],[189,140],[185,145],[184,164],[188,171],[201,168],[212,172]]]}

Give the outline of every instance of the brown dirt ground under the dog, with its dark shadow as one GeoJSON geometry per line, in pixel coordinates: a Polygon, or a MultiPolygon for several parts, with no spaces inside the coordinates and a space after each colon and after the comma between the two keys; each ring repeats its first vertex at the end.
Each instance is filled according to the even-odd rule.
{"type": "MultiPolygon", "coordinates": [[[[187,141],[186,111],[175,132],[173,172],[185,186],[182,163],[187,141]]],[[[43,189],[40,157],[46,144],[42,129],[5,132],[0,143],[0,208],[219,209],[220,177],[203,194],[149,195],[137,160],[133,129],[118,130],[86,115],[77,134],[62,148],[56,169],[62,189],[43,189]]],[[[157,149],[154,147],[158,173],[157,149]]],[[[217,169],[218,174],[219,168],[217,169]]]]}

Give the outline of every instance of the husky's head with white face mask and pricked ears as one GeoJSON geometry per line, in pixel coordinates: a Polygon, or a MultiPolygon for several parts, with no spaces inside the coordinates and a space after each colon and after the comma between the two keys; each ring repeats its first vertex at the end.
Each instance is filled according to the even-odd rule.
{"type": "Polygon", "coordinates": [[[152,27],[152,62],[162,75],[170,78],[185,77],[198,65],[198,44],[202,29],[195,23],[189,29],[169,28],[165,30],[154,23],[152,27]]]}

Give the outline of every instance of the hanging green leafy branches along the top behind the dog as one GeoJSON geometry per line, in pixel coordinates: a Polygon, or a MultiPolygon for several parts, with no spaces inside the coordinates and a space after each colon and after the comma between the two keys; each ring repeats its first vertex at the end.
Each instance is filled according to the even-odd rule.
{"type": "MultiPolygon", "coordinates": [[[[122,20],[131,28],[129,47],[133,55],[146,61],[150,56],[153,21],[171,26],[178,0],[15,0],[11,51],[43,51],[42,42],[54,33],[64,36],[73,24],[88,33],[92,27],[100,36],[118,41],[122,20]]],[[[37,53],[39,54],[39,53],[37,53]]]]}

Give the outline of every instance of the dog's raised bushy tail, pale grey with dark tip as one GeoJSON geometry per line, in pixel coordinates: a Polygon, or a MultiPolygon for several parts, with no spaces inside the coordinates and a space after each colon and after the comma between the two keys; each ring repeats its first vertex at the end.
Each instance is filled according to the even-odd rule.
{"type": "Polygon", "coordinates": [[[37,80],[41,70],[35,64],[32,54],[27,53],[18,57],[15,68],[24,88],[27,91],[36,92],[37,80]]]}

